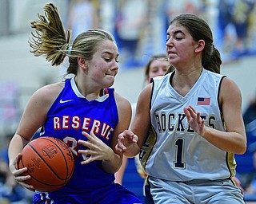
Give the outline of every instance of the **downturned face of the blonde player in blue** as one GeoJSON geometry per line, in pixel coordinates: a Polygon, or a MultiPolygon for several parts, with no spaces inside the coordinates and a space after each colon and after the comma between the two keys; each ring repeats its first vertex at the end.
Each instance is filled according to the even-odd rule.
{"type": "Polygon", "coordinates": [[[113,85],[118,73],[118,56],[118,47],[113,41],[100,42],[92,60],[88,61],[90,80],[94,80],[100,88],[113,85]]]}

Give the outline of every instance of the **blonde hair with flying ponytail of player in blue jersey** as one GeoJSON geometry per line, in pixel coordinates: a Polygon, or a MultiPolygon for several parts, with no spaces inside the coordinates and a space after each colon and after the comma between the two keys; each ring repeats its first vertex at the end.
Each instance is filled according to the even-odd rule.
{"type": "MultiPolygon", "coordinates": [[[[74,39],[71,45],[72,31],[65,33],[58,9],[52,3],[44,6],[45,15],[38,14],[38,20],[31,22],[35,29],[29,40],[31,53],[38,57],[46,56],[51,65],[60,65],[66,56],[69,57],[70,65],[67,74],[77,74],[78,57],[91,60],[98,49],[98,43],[106,40],[114,41],[114,37],[102,29],[88,29],[74,39]]],[[[116,43],[114,41],[114,43],[116,43]]]]}

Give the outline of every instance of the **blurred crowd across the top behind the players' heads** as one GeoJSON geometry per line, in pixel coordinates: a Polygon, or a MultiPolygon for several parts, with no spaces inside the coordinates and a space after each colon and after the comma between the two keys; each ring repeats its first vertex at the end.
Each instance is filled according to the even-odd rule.
{"type": "MultiPolygon", "coordinates": [[[[22,24],[29,28],[44,1],[26,0],[23,6],[6,1],[2,8],[11,8],[6,20],[12,24],[7,29],[22,24]],[[26,2],[26,3],[25,3],[26,2]],[[39,5],[40,4],[40,5],[39,5]],[[35,14],[22,14],[27,5],[35,14]],[[15,14],[17,7],[17,14],[15,14]],[[22,15],[18,17],[18,14],[22,15]],[[13,18],[11,15],[16,16],[13,18]],[[31,16],[28,18],[28,16],[31,16]],[[27,16],[26,18],[24,16],[27,16]],[[21,19],[21,20],[19,20],[21,19]],[[26,20],[22,22],[22,19],[26,20]],[[21,21],[21,22],[19,22],[21,21]]],[[[237,61],[239,57],[256,53],[256,5],[255,0],[53,0],[60,8],[66,29],[72,29],[74,37],[82,30],[100,28],[114,33],[121,51],[124,69],[146,64],[146,57],[165,50],[166,28],[170,19],[182,13],[197,14],[204,18],[214,32],[214,41],[222,52],[222,61],[237,61]],[[129,31],[129,32],[127,32],[129,31]]],[[[24,12],[25,13],[25,12],[24,12]]],[[[3,15],[3,14],[2,14],[3,15]]],[[[2,22],[1,22],[2,23],[2,22]]],[[[2,25],[0,23],[0,26],[2,25]]],[[[1,28],[2,29],[2,28],[1,28]]],[[[0,29],[0,37],[1,37],[0,29]]],[[[16,30],[16,29],[14,29],[16,30]]],[[[16,32],[20,33],[21,27],[16,32]]],[[[8,33],[14,33],[10,30],[8,33]]]]}

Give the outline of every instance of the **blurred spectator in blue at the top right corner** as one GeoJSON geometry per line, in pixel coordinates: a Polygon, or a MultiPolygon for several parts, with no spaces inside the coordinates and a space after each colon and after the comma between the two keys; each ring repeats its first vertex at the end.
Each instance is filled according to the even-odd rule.
{"type": "Polygon", "coordinates": [[[254,0],[220,0],[218,2],[218,44],[230,61],[246,54],[250,13],[254,0]]]}

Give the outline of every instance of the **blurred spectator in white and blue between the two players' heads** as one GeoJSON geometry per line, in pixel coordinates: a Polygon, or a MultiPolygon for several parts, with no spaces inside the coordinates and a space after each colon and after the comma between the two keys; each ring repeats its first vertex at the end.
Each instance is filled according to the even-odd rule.
{"type": "Polygon", "coordinates": [[[127,67],[140,64],[136,54],[143,26],[146,25],[146,11],[146,0],[117,2],[116,39],[121,53],[120,62],[127,67]]]}

